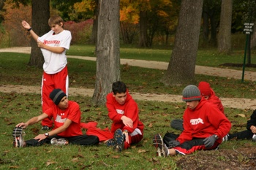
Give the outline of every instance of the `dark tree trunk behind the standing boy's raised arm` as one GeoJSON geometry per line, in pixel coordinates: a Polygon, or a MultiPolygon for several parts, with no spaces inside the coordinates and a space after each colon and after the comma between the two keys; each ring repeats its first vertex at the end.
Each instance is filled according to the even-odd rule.
{"type": "MultiPolygon", "coordinates": [[[[50,31],[48,20],[50,18],[50,0],[32,0],[32,28],[38,36],[50,31]]],[[[44,58],[37,42],[31,41],[31,55],[29,66],[37,66],[42,68],[44,58]]]]}

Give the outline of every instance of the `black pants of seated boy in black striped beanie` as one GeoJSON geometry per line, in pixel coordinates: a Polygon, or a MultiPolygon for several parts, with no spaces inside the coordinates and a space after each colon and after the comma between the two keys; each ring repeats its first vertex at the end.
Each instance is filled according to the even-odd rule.
{"type": "Polygon", "coordinates": [[[72,137],[63,137],[63,136],[50,136],[42,141],[38,142],[36,139],[30,139],[26,141],[26,147],[35,147],[40,146],[42,144],[50,144],[50,140],[56,138],[64,138],[67,139],[69,144],[80,144],[80,145],[94,145],[99,144],[99,138],[93,135],[81,135],[81,136],[72,136],[72,137]]]}

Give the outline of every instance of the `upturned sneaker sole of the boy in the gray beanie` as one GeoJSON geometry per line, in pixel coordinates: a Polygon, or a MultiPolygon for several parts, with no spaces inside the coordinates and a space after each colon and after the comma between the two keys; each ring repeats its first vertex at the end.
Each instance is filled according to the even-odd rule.
{"type": "Polygon", "coordinates": [[[154,147],[157,149],[157,156],[166,157],[168,155],[168,147],[164,144],[162,140],[162,136],[160,134],[156,134],[153,138],[154,147]]]}

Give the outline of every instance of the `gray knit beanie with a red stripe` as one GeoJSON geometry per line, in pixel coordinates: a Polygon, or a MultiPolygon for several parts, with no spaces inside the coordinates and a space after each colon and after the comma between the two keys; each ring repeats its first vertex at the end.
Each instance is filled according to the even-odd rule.
{"type": "Polygon", "coordinates": [[[182,91],[183,101],[200,101],[200,99],[201,99],[200,90],[195,85],[188,85],[182,91]]]}

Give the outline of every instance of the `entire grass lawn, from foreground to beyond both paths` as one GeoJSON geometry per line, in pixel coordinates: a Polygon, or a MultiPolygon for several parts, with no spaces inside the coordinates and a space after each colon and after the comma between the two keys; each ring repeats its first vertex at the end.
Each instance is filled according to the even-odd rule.
{"type": "MultiPolygon", "coordinates": [[[[68,51],[68,55],[82,54],[94,56],[94,48],[92,46],[77,46],[68,51]]],[[[242,55],[241,52],[236,52],[231,56],[222,56],[214,52],[211,53],[211,51],[200,51],[197,63],[206,66],[218,66],[227,61],[238,62],[242,55]]],[[[170,52],[168,50],[122,48],[121,58],[125,57],[148,60],[159,58],[159,61],[168,61],[170,52]]],[[[40,85],[42,69],[27,66],[28,62],[29,55],[27,54],[0,53],[0,85],[40,85]]],[[[95,61],[69,58],[68,62],[69,87],[94,88],[95,61]]],[[[121,80],[127,83],[131,91],[181,94],[181,90],[186,85],[166,87],[159,82],[163,74],[164,71],[154,69],[133,66],[124,68],[121,66],[121,80]]],[[[197,82],[210,82],[211,87],[217,92],[217,96],[255,98],[255,82],[241,83],[241,80],[199,74],[196,75],[196,79],[197,82]]],[[[111,122],[104,106],[95,107],[91,104],[91,98],[84,96],[69,97],[69,100],[77,101],[80,104],[83,122],[97,121],[99,128],[110,128],[111,122]]],[[[55,147],[45,144],[41,147],[13,148],[12,128],[17,123],[41,113],[40,96],[31,93],[0,93],[0,169],[181,169],[177,162],[181,161],[182,158],[189,157],[178,155],[173,158],[157,158],[151,139],[156,133],[162,135],[167,131],[180,133],[170,128],[170,121],[182,117],[185,104],[183,102],[138,101],[138,106],[140,108],[140,120],[145,125],[144,138],[142,142],[132,146],[129,150],[124,150],[124,152],[113,152],[104,144],[93,147],[77,145],[55,147]]],[[[249,119],[252,110],[225,108],[225,114],[233,124],[231,132],[236,132],[245,129],[246,120],[249,119]]],[[[39,133],[44,133],[40,128],[39,123],[29,126],[26,129],[25,138],[31,139],[39,133]]],[[[223,143],[219,149],[233,150],[233,147],[241,148],[248,145],[256,146],[256,143],[245,140],[228,141],[223,143]]],[[[195,152],[192,155],[199,157],[202,152],[195,152]]],[[[209,152],[216,154],[215,157],[218,158],[217,152],[209,152]]],[[[243,156],[241,155],[236,159],[243,160],[243,156]]],[[[206,163],[208,163],[207,160],[206,163]]],[[[200,164],[197,166],[200,167],[200,164]]]]}

